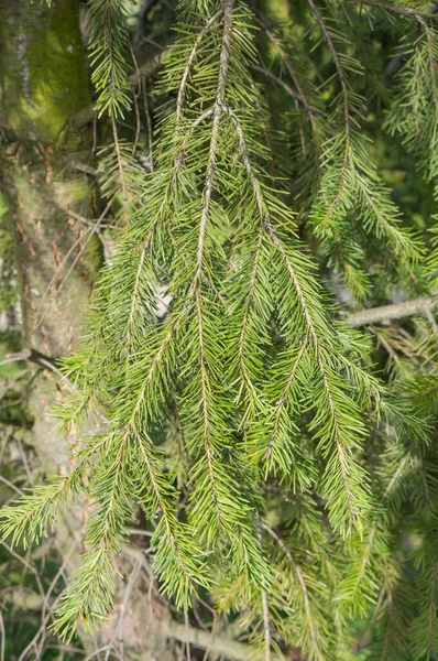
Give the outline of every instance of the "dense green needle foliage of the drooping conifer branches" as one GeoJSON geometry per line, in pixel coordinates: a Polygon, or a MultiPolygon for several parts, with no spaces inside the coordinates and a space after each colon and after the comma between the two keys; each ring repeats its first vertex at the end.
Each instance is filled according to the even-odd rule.
{"type": "Polygon", "coordinates": [[[209,593],[254,659],[355,659],[352,622],[372,619],[366,659],[431,660],[437,326],[346,313],[434,293],[438,19],[419,0],[280,4],[180,0],[139,142],[119,121],[140,115],[123,4],[88,1],[116,248],[65,362],[74,469],[2,530],[35,542],[88,494],[67,638],[110,610],[141,509],[163,592],[209,593]]]}

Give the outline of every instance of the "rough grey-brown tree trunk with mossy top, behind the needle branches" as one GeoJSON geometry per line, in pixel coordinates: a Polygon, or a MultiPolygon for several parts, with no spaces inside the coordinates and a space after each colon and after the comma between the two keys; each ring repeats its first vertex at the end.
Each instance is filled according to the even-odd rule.
{"type": "MultiPolygon", "coordinates": [[[[57,0],[50,9],[39,0],[0,0],[0,183],[17,245],[23,342],[46,356],[66,356],[84,327],[101,259],[96,237],[84,249],[86,228],[69,215],[94,216],[87,176],[72,167],[73,162],[88,161],[92,142],[89,128],[74,133],[70,121],[90,105],[78,2],[57,0]]],[[[35,447],[47,474],[69,469],[69,445],[76,442],[61,435],[50,415],[61,395],[56,372],[41,369],[31,409],[35,447]]],[[[63,555],[75,538],[77,542],[83,519],[80,505],[69,508],[57,532],[63,555]]],[[[74,555],[68,566],[75,566],[74,555]]],[[[172,661],[174,653],[157,626],[168,618],[168,609],[146,598],[144,572],[135,583],[131,603],[123,604],[121,585],[108,625],[95,640],[84,636],[83,642],[90,651],[112,640],[123,609],[114,642],[124,638],[134,659],[172,661]]]]}

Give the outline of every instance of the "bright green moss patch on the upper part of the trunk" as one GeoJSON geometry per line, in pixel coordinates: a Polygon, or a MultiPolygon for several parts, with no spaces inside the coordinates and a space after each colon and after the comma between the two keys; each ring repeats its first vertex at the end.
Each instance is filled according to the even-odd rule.
{"type": "Polygon", "coordinates": [[[90,102],[78,4],[0,0],[0,14],[2,123],[22,139],[56,140],[90,102]]]}

